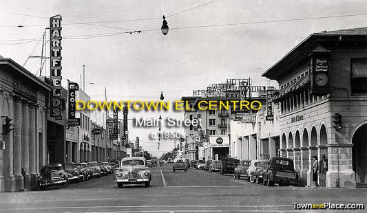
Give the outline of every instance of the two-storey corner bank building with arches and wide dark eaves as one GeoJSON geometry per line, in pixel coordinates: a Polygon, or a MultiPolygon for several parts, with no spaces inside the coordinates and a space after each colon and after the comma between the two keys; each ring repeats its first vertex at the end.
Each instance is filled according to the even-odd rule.
{"type": "Polygon", "coordinates": [[[312,156],[326,155],[320,186],[366,186],[367,27],[312,34],[262,76],[280,85],[273,100],[280,104],[280,156],[294,159],[307,185],[313,185],[312,156]],[[324,93],[313,91],[320,84],[315,54],[328,57],[324,93]],[[333,127],[335,113],[342,115],[340,131],[333,127]]]}

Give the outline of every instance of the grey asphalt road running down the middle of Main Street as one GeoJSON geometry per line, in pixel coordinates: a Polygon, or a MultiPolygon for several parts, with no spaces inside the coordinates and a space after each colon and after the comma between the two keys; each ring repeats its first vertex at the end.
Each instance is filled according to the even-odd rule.
{"type": "Polygon", "coordinates": [[[150,188],[117,188],[108,175],[68,188],[0,193],[0,212],[300,212],[293,202],[367,205],[367,189],[267,187],[217,172],[173,172],[171,165],[151,172],[150,188]]]}

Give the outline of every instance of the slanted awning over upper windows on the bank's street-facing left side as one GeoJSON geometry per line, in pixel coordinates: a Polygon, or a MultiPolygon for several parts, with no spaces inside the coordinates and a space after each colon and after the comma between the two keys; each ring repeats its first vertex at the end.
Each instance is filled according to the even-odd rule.
{"type": "Polygon", "coordinates": [[[286,98],[293,97],[295,93],[300,91],[304,91],[308,89],[308,83],[310,82],[310,78],[308,75],[302,76],[300,79],[295,80],[292,84],[280,89],[278,94],[275,94],[273,98],[273,102],[280,102],[286,98]]]}

